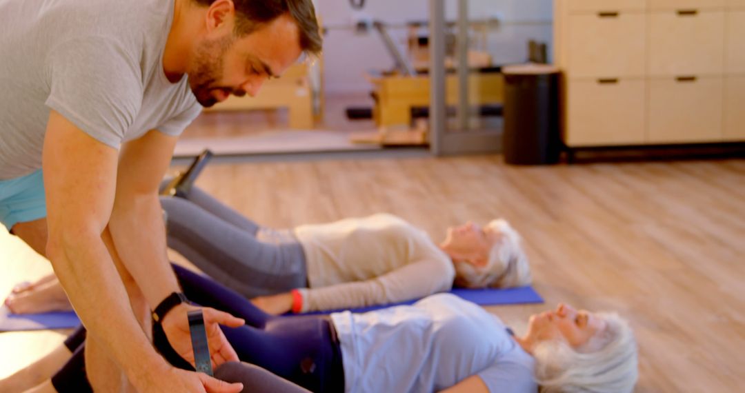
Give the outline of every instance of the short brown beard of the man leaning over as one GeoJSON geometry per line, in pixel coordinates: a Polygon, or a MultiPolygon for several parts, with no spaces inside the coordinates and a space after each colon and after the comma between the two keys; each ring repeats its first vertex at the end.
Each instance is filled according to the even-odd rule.
{"type": "Polygon", "coordinates": [[[225,53],[235,42],[235,37],[224,36],[212,41],[202,42],[197,48],[193,71],[188,73],[188,83],[197,102],[205,108],[218,103],[213,93],[222,91],[226,95],[245,95],[245,92],[235,92],[231,87],[216,86],[223,77],[223,63],[225,53]]]}

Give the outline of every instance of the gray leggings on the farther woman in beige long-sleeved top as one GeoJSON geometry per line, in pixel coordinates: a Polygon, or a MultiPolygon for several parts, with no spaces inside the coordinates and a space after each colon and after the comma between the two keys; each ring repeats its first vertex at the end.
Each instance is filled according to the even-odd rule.
{"type": "Polygon", "coordinates": [[[168,247],[247,298],[308,287],[305,253],[291,231],[264,229],[198,188],[161,197],[168,247]]]}

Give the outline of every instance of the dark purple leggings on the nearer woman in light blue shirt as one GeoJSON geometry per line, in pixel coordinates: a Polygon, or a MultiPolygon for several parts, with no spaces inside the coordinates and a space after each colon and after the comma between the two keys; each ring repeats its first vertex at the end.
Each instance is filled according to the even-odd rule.
{"type": "MultiPolygon", "coordinates": [[[[312,392],[343,392],[341,351],[328,316],[270,316],[212,279],[180,266],[173,267],[190,301],[246,320],[245,326],[222,327],[241,361],[265,368],[312,392]]],[[[153,327],[153,341],[171,364],[194,370],[174,352],[157,326],[153,327]]],[[[81,348],[53,377],[59,392],[65,391],[62,387],[81,386],[80,367],[84,367],[81,348]]]]}

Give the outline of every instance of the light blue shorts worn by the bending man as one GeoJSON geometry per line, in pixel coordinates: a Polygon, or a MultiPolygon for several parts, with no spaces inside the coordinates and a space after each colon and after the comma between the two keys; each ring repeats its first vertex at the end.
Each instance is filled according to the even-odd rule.
{"type": "Polygon", "coordinates": [[[17,223],[46,217],[42,170],[16,179],[0,180],[0,223],[8,231],[17,223]]]}

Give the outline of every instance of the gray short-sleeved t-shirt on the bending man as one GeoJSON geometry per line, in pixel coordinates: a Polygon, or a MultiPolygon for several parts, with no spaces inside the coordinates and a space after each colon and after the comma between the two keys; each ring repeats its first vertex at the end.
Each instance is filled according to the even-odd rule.
{"type": "Polygon", "coordinates": [[[0,0],[0,179],[41,167],[50,109],[111,147],[201,106],[162,67],[173,0],[0,0]]]}

